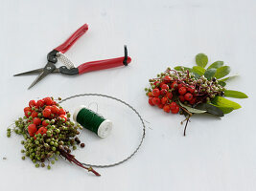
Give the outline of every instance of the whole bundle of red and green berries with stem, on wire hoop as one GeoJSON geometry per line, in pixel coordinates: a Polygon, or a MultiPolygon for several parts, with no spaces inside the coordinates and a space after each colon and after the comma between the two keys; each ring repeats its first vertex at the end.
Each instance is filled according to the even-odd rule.
{"type": "Polygon", "coordinates": [[[100,176],[93,168],[84,166],[70,154],[78,146],[84,147],[84,143],[78,138],[81,125],[75,124],[70,117],[71,114],[53,97],[30,100],[28,107],[24,108],[24,117],[19,117],[15,120],[14,127],[7,129],[7,137],[10,138],[12,132],[23,136],[21,159],[32,159],[35,167],[47,165],[51,169],[51,165],[60,157],[100,176]]]}

